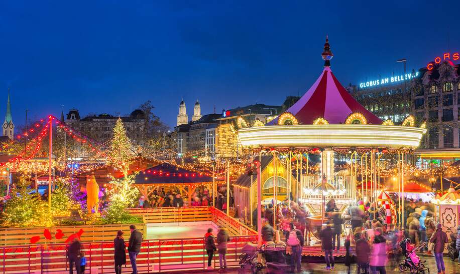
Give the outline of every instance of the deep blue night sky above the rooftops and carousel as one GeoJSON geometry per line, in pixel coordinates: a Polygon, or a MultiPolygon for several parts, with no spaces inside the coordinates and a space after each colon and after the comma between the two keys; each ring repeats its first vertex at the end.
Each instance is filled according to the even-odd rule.
{"type": "MultiPolygon", "coordinates": [[[[130,113],[146,100],[175,126],[253,103],[281,105],[319,76],[325,35],[343,85],[426,66],[460,51],[459,1],[3,1],[0,116],[13,121],[130,113]],[[280,5],[280,4],[283,5],[280,5]],[[314,4],[315,3],[315,4],[314,4]]],[[[3,118],[2,118],[3,119],[3,118]]],[[[2,120],[3,121],[3,120],[2,120]]]]}

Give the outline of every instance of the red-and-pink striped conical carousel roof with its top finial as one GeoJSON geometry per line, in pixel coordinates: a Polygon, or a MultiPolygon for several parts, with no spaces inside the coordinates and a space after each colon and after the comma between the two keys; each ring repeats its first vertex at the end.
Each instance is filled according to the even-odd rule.
{"type": "MultiPolygon", "coordinates": [[[[335,78],[330,69],[329,60],[332,58],[332,52],[327,38],[322,56],[326,62],[321,75],[302,98],[286,112],[294,115],[299,124],[311,125],[319,117],[326,119],[329,124],[343,124],[350,114],[356,112],[363,114],[368,124],[382,124],[379,117],[358,103],[335,78]]],[[[278,118],[267,125],[277,125],[278,118]]]]}

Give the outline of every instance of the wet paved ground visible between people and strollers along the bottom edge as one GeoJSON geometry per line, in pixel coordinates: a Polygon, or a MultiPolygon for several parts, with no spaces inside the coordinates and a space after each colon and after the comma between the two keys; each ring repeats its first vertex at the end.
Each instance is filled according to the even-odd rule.
{"type": "MultiPolygon", "coordinates": [[[[427,257],[427,256],[422,256],[422,259],[426,259],[425,266],[430,268],[430,273],[437,273],[437,268],[436,268],[436,263],[434,261],[434,257],[427,257]]],[[[348,273],[348,267],[343,264],[343,262],[337,262],[335,264],[335,269],[333,270],[325,270],[323,267],[325,266],[324,263],[318,263],[318,262],[305,262],[307,258],[303,258],[302,262],[302,272],[296,272],[296,273],[302,273],[302,274],[316,274],[316,273],[335,273],[335,274],[347,274],[348,273]]],[[[315,259],[315,261],[318,261],[318,259],[315,259]]],[[[444,256],[444,263],[445,263],[445,268],[446,268],[446,273],[448,274],[455,274],[455,273],[460,273],[460,265],[456,261],[451,261],[448,257],[444,256]]],[[[387,273],[400,273],[398,269],[395,269],[395,267],[386,267],[387,273]]],[[[356,264],[351,266],[350,273],[356,274],[356,264]]],[[[216,273],[218,272],[217,270],[209,270],[207,272],[195,272],[195,273],[216,273]]],[[[228,269],[224,271],[224,273],[228,274],[237,274],[238,269],[228,269]]],[[[263,271],[265,273],[265,271],[263,271]]],[[[405,273],[410,273],[410,271],[406,271],[405,273]]]]}

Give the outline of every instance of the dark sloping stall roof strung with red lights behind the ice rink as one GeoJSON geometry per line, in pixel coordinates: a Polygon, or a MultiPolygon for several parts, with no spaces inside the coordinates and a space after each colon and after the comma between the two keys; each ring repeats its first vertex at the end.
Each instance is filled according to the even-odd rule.
{"type": "MultiPolygon", "coordinates": [[[[217,180],[215,180],[217,182],[217,180]]],[[[139,172],[136,184],[200,184],[212,182],[212,177],[163,163],[139,172]]]]}

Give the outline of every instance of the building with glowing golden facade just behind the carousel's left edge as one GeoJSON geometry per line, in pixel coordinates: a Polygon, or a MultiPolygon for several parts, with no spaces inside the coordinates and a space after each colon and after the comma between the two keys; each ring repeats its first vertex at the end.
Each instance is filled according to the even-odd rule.
{"type": "Polygon", "coordinates": [[[241,144],[235,131],[238,126],[238,117],[242,117],[249,125],[254,124],[256,121],[265,124],[282,112],[282,106],[268,106],[264,104],[223,110],[222,116],[217,119],[216,155],[219,157],[239,157],[241,155],[241,144]]]}

